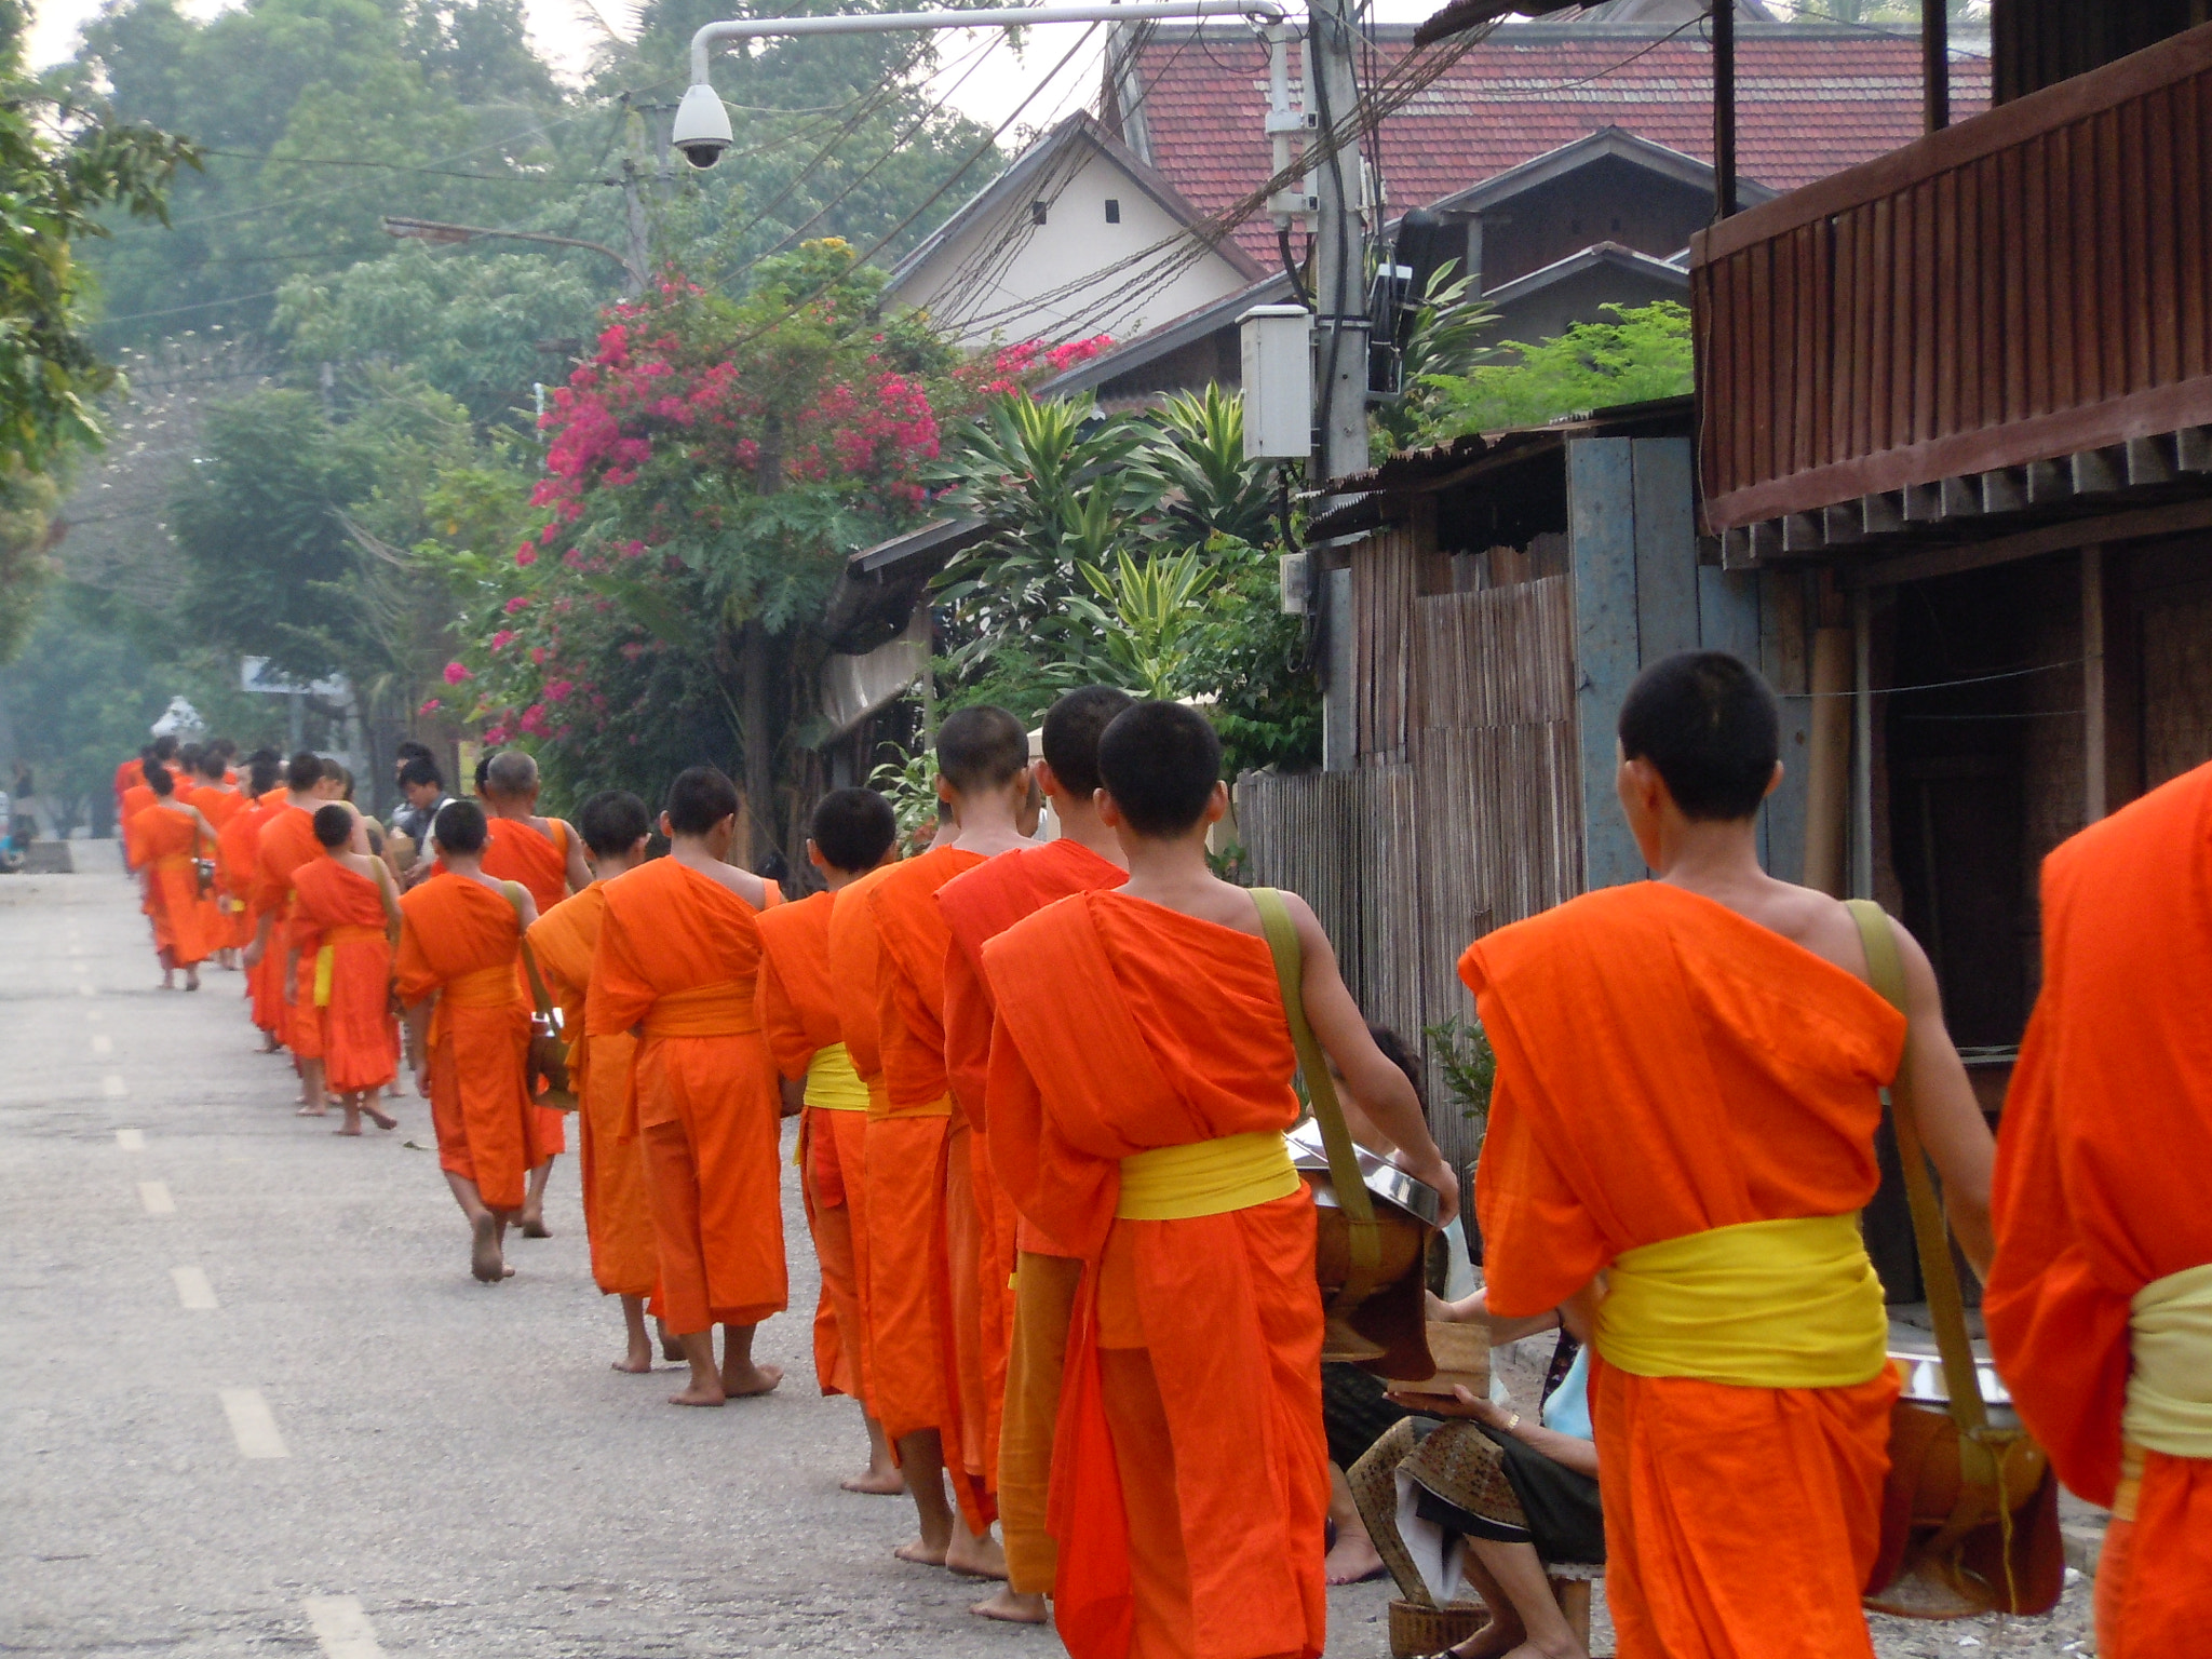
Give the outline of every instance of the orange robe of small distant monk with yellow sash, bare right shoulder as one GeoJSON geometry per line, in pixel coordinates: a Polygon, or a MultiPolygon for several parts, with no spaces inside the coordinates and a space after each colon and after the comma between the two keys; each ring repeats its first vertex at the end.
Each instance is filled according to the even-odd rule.
{"type": "Polygon", "coordinates": [[[392,1018],[392,936],[383,891],[336,858],[292,872],[292,947],[299,995],[323,1011],[323,1082],[338,1095],[376,1091],[398,1075],[392,1018]],[[321,953],[330,951],[330,973],[321,953]]]}

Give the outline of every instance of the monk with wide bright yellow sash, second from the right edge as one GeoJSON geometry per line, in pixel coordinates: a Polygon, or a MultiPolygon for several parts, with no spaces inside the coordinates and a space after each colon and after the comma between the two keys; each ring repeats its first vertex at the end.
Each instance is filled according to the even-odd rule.
{"type": "Polygon", "coordinates": [[[1978,1270],[1989,1128],[1905,929],[1898,1013],[1867,984],[1851,914],[1759,867],[1759,803],[1781,781],[1759,675],[1723,653],[1646,668],[1619,752],[1657,880],[1460,960],[1498,1046],[1478,1177],[1489,1312],[1595,1314],[1624,1659],[1867,1655],[1898,1394],[1858,1234],[1880,1088],[1911,1102],[1978,1270]]]}

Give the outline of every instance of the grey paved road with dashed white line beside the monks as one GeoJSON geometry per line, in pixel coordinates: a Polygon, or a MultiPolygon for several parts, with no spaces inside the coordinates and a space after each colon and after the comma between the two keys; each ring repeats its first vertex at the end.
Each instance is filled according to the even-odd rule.
{"type": "MultiPolygon", "coordinates": [[[[113,849],[80,865],[0,880],[0,1650],[1062,1652],[889,1559],[905,1506],[836,1489],[858,1420],[807,1385],[803,1318],[761,1336],[792,1376],[768,1400],[617,1376],[573,1157],[555,1239],[473,1283],[422,1102],[358,1141],[294,1117],[239,978],[157,991],[113,849]]],[[[1329,1652],[1387,1652],[1383,1608],[1338,1590],[1329,1652]]],[[[1885,1652],[1969,1630],[1902,1635],[1885,1652]]],[[[2079,1628],[2022,1635],[1984,1650],[2079,1628]]]]}

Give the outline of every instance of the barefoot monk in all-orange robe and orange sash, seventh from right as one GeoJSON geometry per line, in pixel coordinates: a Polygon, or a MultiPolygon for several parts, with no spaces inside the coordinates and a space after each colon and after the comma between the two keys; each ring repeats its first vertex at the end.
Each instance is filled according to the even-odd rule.
{"type": "Polygon", "coordinates": [[[728,863],[737,785],[712,765],[668,785],[668,856],[606,887],[584,1029],[637,1033],[637,1126],[668,1329],[690,1360],[670,1405],[768,1394],[752,1334],[790,1296],[774,1064],[754,993],[757,918],[781,894],[728,863]],[[723,1360],[714,1365],[714,1325],[723,1360]]]}

